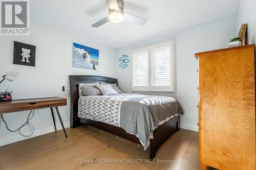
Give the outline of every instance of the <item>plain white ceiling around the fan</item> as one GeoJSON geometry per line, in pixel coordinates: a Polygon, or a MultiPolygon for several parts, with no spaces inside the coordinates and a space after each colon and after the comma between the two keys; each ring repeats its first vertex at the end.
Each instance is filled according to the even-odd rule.
{"type": "Polygon", "coordinates": [[[108,15],[105,0],[33,0],[31,17],[57,28],[119,48],[237,13],[239,0],[124,0],[124,12],[146,18],[91,25],[108,15]]]}

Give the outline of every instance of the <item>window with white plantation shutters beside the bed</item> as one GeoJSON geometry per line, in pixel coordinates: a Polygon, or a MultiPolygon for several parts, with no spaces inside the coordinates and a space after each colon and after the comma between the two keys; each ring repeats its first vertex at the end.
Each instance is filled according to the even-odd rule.
{"type": "Polygon", "coordinates": [[[175,40],[132,51],[132,90],[175,92],[175,40]]]}

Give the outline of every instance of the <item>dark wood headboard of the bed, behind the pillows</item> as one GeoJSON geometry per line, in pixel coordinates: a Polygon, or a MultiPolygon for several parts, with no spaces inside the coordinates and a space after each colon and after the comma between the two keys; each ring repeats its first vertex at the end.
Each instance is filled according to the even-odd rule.
{"type": "Polygon", "coordinates": [[[79,126],[79,119],[77,116],[78,111],[78,85],[79,83],[96,83],[105,82],[114,84],[117,79],[102,77],[102,76],[69,76],[70,81],[70,127],[75,128],[79,126]]]}

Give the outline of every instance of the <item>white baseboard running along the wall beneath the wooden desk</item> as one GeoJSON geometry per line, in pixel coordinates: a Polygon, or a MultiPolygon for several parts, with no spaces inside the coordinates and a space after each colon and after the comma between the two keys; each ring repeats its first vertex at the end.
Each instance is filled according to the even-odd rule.
{"type": "MultiPolygon", "coordinates": [[[[69,128],[70,127],[70,122],[63,123],[63,125],[64,125],[65,128],[69,128]]],[[[57,124],[56,129],[57,130],[62,130],[61,125],[57,124]]],[[[44,135],[46,133],[50,133],[50,132],[54,132],[54,131],[55,131],[54,127],[47,127],[47,128],[44,128],[44,129],[35,130],[33,135],[30,136],[30,137],[24,137],[22,135],[5,136],[3,138],[0,138],[0,146],[10,144],[10,143],[13,143],[13,142],[17,142],[17,141],[20,141],[20,140],[25,140],[25,139],[29,139],[29,138],[32,138],[32,137],[44,135]]],[[[30,133],[27,133],[27,134],[25,133],[25,135],[29,135],[29,134],[30,133]]]]}

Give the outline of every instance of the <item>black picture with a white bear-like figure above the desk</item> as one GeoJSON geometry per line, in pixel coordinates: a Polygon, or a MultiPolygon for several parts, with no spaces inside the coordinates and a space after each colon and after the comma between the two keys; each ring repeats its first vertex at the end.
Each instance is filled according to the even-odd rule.
{"type": "Polygon", "coordinates": [[[35,66],[35,46],[14,41],[13,64],[35,66]]]}

